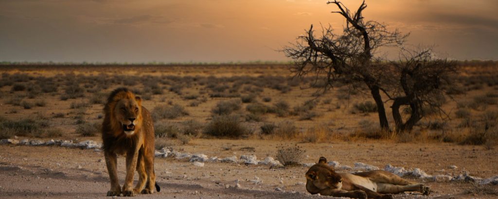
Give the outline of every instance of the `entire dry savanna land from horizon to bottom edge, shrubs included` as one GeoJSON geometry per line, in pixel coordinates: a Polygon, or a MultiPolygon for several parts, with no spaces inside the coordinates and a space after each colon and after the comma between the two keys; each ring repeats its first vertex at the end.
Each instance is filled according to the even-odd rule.
{"type": "MultiPolygon", "coordinates": [[[[326,198],[305,188],[309,163],[321,156],[337,161],[339,173],[361,162],[449,176],[404,176],[433,192],[395,198],[498,197],[498,185],[476,180],[498,176],[497,62],[459,63],[445,114],[427,113],[409,133],[379,129],[367,90],[337,84],[323,92],[313,77],[292,78],[288,67],[2,65],[0,138],[101,143],[103,104],[126,87],[152,113],[156,149],[177,155],[156,157],[161,192],[138,198],[326,198]],[[194,164],[193,154],[212,159],[194,164]]],[[[101,150],[31,145],[0,145],[1,198],[105,198],[101,150]]],[[[123,157],[118,171],[123,184],[123,157]]]]}

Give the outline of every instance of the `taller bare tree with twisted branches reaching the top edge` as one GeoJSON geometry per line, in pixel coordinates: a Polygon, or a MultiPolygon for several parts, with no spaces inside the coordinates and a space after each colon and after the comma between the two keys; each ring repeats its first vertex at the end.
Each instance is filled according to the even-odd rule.
{"type": "Polygon", "coordinates": [[[352,13],[340,1],[328,1],[335,4],[346,21],[342,35],[336,35],[331,26],[322,28],[322,36],[315,38],[313,25],[305,35],[298,37],[296,44],[285,47],[286,56],[295,60],[291,71],[298,77],[313,74],[316,81],[325,81],[324,91],[340,82],[350,85],[363,83],[368,87],[377,105],[380,127],[388,129],[384,102],[380,92],[383,64],[373,57],[380,47],[403,44],[407,34],[397,29],[387,30],[386,26],[376,21],[365,21],[362,12],[367,8],[365,1],[355,13],[352,13]]]}

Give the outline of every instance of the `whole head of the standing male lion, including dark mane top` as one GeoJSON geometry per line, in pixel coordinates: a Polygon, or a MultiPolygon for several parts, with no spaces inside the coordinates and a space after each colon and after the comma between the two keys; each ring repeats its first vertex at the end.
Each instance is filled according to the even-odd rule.
{"type": "Polygon", "coordinates": [[[106,114],[110,114],[115,131],[133,135],[141,127],[141,99],[135,97],[129,90],[116,89],[109,96],[106,104],[106,114]],[[109,112],[108,112],[109,111],[109,112]]]}

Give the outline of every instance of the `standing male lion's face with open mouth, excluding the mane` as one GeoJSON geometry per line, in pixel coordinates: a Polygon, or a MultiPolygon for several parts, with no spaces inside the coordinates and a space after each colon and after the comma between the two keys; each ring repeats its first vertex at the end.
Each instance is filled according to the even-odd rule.
{"type": "Polygon", "coordinates": [[[141,125],[141,100],[136,99],[121,99],[114,107],[114,117],[123,127],[123,132],[126,135],[135,133],[135,129],[141,125]]]}

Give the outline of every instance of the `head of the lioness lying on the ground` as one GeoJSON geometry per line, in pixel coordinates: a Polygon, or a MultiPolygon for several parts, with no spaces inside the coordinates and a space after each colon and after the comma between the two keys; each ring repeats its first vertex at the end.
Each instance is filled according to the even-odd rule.
{"type": "Polygon", "coordinates": [[[324,157],[320,157],[318,163],[306,172],[306,179],[320,190],[342,187],[342,177],[334,171],[334,168],[327,165],[327,159],[324,157]]]}

